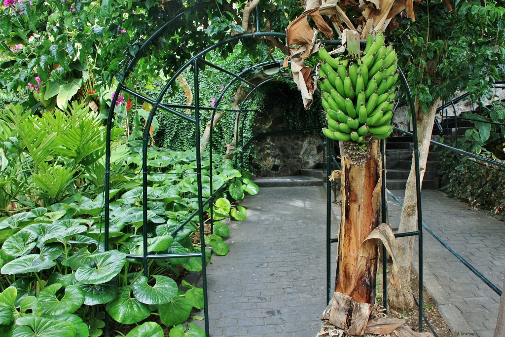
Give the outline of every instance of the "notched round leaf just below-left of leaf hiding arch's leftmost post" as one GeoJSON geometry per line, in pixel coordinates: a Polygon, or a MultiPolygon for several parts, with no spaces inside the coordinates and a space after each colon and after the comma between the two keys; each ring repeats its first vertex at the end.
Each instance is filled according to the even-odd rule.
{"type": "Polygon", "coordinates": [[[58,292],[62,287],[61,283],[54,283],[47,285],[40,291],[38,300],[42,304],[42,314],[71,314],[82,306],[84,291],[78,285],[67,286],[63,297],[58,292]]]}

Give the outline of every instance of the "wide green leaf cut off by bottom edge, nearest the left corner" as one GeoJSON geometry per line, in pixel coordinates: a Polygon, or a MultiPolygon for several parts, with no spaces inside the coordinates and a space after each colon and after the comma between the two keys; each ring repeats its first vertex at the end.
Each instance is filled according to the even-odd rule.
{"type": "Polygon", "coordinates": [[[75,337],[73,323],[34,314],[18,318],[12,337],[75,337]]]}

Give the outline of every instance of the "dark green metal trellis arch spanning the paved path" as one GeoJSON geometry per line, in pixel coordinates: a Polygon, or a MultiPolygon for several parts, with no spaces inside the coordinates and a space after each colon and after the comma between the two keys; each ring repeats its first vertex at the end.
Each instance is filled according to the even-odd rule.
{"type": "MultiPolygon", "coordinates": [[[[173,75],[167,80],[166,84],[164,87],[159,91],[158,97],[156,99],[151,99],[143,95],[142,93],[128,87],[125,85],[125,81],[130,75],[131,71],[134,69],[135,65],[139,61],[141,57],[143,57],[143,53],[147,49],[147,47],[153,43],[153,41],[159,37],[170,25],[176,25],[179,20],[183,19],[184,14],[187,12],[193,12],[196,11],[200,8],[203,8],[205,6],[209,5],[209,3],[203,3],[203,4],[198,4],[195,5],[189,9],[187,9],[185,12],[182,12],[166,22],[163,26],[161,26],[153,35],[149,36],[145,40],[145,42],[139,47],[137,53],[135,56],[128,62],[125,71],[123,73],[123,77],[119,81],[119,84],[116,88],[116,91],[113,95],[112,98],[112,103],[111,103],[111,108],[109,110],[109,115],[107,118],[107,129],[106,129],[106,161],[105,161],[105,184],[104,184],[104,200],[105,200],[105,228],[104,228],[104,236],[105,236],[105,250],[108,249],[109,247],[109,226],[110,226],[110,178],[111,174],[122,174],[121,172],[115,172],[111,170],[111,131],[113,127],[113,120],[114,120],[114,107],[116,105],[117,99],[119,97],[119,94],[121,92],[126,92],[132,97],[137,98],[138,100],[142,102],[146,102],[152,105],[148,116],[146,118],[146,123],[144,125],[144,131],[143,131],[143,138],[142,138],[142,167],[141,171],[139,173],[142,174],[142,223],[144,224],[142,226],[142,236],[143,236],[143,254],[141,255],[133,255],[129,254],[127,255],[127,258],[130,259],[137,259],[142,261],[142,266],[143,266],[143,273],[145,276],[147,276],[147,263],[151,259],[172,259],[172,258],[182,258],[182,257],[198,257],[201,259],[201,273],[203,275],[202,281],[203,281],[203,292],[204,292],[204,318],[205,318],[205,331],[206,331],[206,336],[209,336],[209,315],[208,315],[208,301],[207,301],[207,279],[206,279],[206,254],[205,254],[205,240],[200,240],[200,252],[195,252],[195,253],[187,253],[187,254],[149,254],[147,250],[147,238],[148,238],[148,233],[147,233],[147,226],[146,224],[148,223],[148,217],[147,217],[147,184],[148,184],[148,168],[147,168],[147,149],[148,149],[148,144],[150,141],[150,135],[149,135],[149,129],[151,124],[153,123],[153,119],[156,115],[156,112],[160,110],[164,110],[166,112],[172,113],[173,115],[177,116],[178,118],[181,118],[185,120],[187,123],[191,123],[194,125],[195,128],[195,149],[196,149],[196,180],[197,180],[197,189],[198,189],[198,197],[197,197],[197,203],[198,203],[198,210],[196,210],[193,214],[191,214],[187,220],[185,220],[177,229],[172,232],[172,235],[175,235],[180,229],[182,229],[187,223],[189,223],[194,217],[198,216],[198,223],[199,223],[199,234],[200,237],[204,237],[205,232],[204,232],[204,219],[203,216],[200,216],[203,214],[204,207],[206,205],[211,204],[212,205],[212,200],[219,192],[219,190],[224,186],[220,186],[219,188],[216,189],[215,192],[214,188],[212,186],[212,139],[213,139],[213,132],[212,132],[212,127],[211,127],[211,136],[209,140],[209,149],[210,149],[210,190],[211,190],[211,196],[210,198],[207,198],[204,200],[203,196],[203,181],[202,181],[202,173],[201,173],[201,152],[200,152],[200,111],[201,110],[212,110],[212,111],[220,111],[222,109],[219,109],[218,106],[221,103],[225,93],[227,92],[228,89],[231,88],[231,86],[236,82],[236,81],[241,81],[251,87],[251,90],[247,94],[247,98],[250,96],[252,92],[260,88],[263,84],[270,82],[274,80],[275,78],[270,78],[267,79],[260,84],[254,84],[249,81],[247,81],[244,76],[250,72],[251,70],[254,69],[259,69],[262,66],[265,66],[267,64],[271,63],[279,63],[280,61],[274,60],[273,62],[264,62],[257,64],[253,67],[250,67],[248,69],[245,69],[244,71],[240,72],[239,74],[234,74],[226,69],[223,69],[221,67],[218,67],[214,65],[212,62],[206,61],[202,59],[202,56],[205,56],[207,53],[216,50],[218,47],[229,44],[231,42],[243,40],[243,39],[248,39],[248,38],[258,38],[258,37],[267,37],[267,36],[272,36],[276,38],[285,38],[285,33],[280,33],[280,32],[262,32],[259,30],[260,24],[259,24],[259,11],[258,8],[256,8],[256,27],[257,31],[253,33],[247,33],[247,34],[241,34],[238,36],[231,37],[229,39],[220,41],[218,43],[215,43],[212,46],[205,47],[201,52],[193,55],[187,62],[184,63],[184,65],[175,71],[173,75]],[[222,93],[220,94],[219,98],[216,100],[215,107],[203,107],[200,106],[200,100],[199,100],[199,65],[205,65],[205,66],[210,66],[214,67],[224,73],[227,73],[228,75],[232,76],[233,79],[224,87],[222,93]],[[186,70],[188,67],[193,66],[193,76],[194,76],[194,105],[192,106],[186,106],[186,105],[172,105],[172,104],[166,104],[163,103],[162,100],[167,94],[167,91],[171,87],[171,85],[175,82],[177,77],[182,74],[184,70],[186,70]],[[185,113],[181,113],[177,111],[176,109],[192,109],[194,113],[192,115],[187,115],[185,113]]],[[[196,29],[196,27],[195,27],[196,29]]],[[[335,43],[340,43],[338,40],[328,40],[328,41],[323,41],[326,44],[335,44],[335,43]]],[[[420,198],[420,192],[421,192],[421,187],[420,187],[420,177],[419,177],[419,149],[418,149],[418,142],[417,142],[417,127],[416,127],[416,116],[415,116],[415,109],[414,109],[414,102],[412,99],[412,94],[410,93],[410,89],[407,84],[406,77],[403,75],[403,73],[400,71],[400,80],[402,82],[403,87],[405,88],[406,91],[406,97],[407,97],[407,105],[410,108],[411,115],[412,115],[412,123],[413,123],[413,134],[414,134],[414,158],[415,158],[415,165],[416,165],[416,182],[417,182],[417,208],[418,208],[418,223],[422,223],[422,213],[421,213],[421,198],[420,198]]],[[[245,101],[245,100],[244,100],[245,101]]],[[[235,110],[235,112],[238,112],[240,115],[242,113],[242,104],[240,105],[239,110],[235,110]]],[[[211,117],[211,126],[213,125],[214,122],[214,114],[211,117]]],[[[238,131],[238,126],[237,126],[237,131],[238,131]]],[[[242,138],[243,139],[243,138],[242,138]]],[[[243,142],[242,142],[243,144],[243,142]]],[[[330,169],[330,164],[334,162],[334,158],[332,157],[333,155],[330,154],[330,142],[326,140],[326,160],[327,160],[327,175],[329,176],[331,173],[330,169]]],[[[243,152],[242,152],[243,155],[243,152]]],[[[383,160],[383,167],[384,161],[385,161],[385,142],[382,142],[382,160],[383,160]]],[[[385,182],[385,179],[383,180],[385,182]]],[[[386,216],[386,189],[385,189],[385,184],[382,184],[382,221],[386,222],[385,216],[386,216]]],[[[210,208],[212,212],[212,207],[210,208]]],[[[327,300],[329,301],[330,299],[330,294],[332,293],[331,291],[331,284],[330,284],[330,279],[331,279],[331,244],[335,243],[337,239],[331,238],[331,186],[329,183],[327,183],[327,240],[326,240],[326,245],[327,245],[327,300]]],[[[211,218],[212,218],[212,213],[211,213],[211,218]]],[[[422,227],[418,226],[418,230],[415,232],[409,232],[409,233],[401,233],[398,236],[408,236],[408,235],[418,235],[419,236],[419,270],[420,270],[420,288],[422,289],[422,227]]],[[[385,265],[385,249],[383,250],[383,263],[385,265]]],[[[384,268],[384,284],[386,284],[386,272],[384,268]]],[[[384,287],[384,300],[386,299],[386,287],[384,287]]],[[[422,326],[422,291],[420,291],[420,299],[419,299],[420,305],[420,314],[419,314],[419,319],[420,319],[420,326],[422,326]]],[[[325,307],[325,305],[322,305],[322,308],[325,307]]],[[[106,331],[106,334],[108,334],[108,331],[106,331]]]]}

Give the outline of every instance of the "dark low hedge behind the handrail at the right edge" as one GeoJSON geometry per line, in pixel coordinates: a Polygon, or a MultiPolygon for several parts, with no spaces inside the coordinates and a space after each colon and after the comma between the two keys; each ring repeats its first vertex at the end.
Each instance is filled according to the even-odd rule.
{"type": "Polygon", "coordinates": [[[505,215],[505,171],[451,151],[442,151],[439,158],[447,182],[442,190],[476,209],[505,215]]]}

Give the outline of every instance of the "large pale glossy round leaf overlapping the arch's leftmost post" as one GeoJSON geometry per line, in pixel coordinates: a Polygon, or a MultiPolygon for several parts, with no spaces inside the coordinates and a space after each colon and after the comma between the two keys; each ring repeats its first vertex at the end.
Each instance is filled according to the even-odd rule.
{"type": "Polygon", "coordinates": [[[117,250],[92,254],[88,265],[77,268],[75,279],[82,283],[100,284],[109,282],[123,268],[126,254],[117,250]]]}

